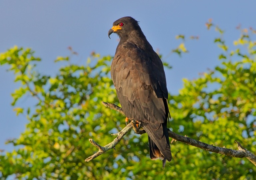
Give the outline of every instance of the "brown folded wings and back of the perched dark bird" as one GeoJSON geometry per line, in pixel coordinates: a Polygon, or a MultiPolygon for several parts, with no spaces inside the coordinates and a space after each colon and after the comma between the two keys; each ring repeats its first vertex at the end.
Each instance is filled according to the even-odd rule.
{"type": "Polygon", "coordinates": [[[118,46],[111,77],[128,118],[164,123],[167,114],[163,99],[168,98],[165,73],[161,59],[152,52],[131,43],[118,46]]]}

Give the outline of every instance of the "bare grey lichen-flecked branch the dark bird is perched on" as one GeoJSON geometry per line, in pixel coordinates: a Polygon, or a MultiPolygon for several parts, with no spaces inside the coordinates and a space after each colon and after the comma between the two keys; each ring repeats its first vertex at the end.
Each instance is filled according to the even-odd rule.
{"type": "MultiPolygon", "coordinates": [[[[122,114],[124,114],[123,109],[120,108],[119,106],[115,105],[115,104],[110,104],[110,103],[106,103],[106,102],[102,102],[102,104],[108,108],[114,109],[122,114]]],[[[129,123],[124,129],[122,129],[117,137],[114,139],[114,141],[112,141],[111,143],[107,144],[106,146],[102,147],[99,144],[97,144],[95,141],[93,141],[92,139],[89,139],[90,143],[94,146],[96,146],[99,151],[97,153],[95,153],[94,155],[88,157],[87,159],[85,159],[85,162],[89,162],[92,159],[98,157],[99,155],[101,155],[102,153],[115,148],[115,145],[122,139],[122,137],[131,129],[134,129],[135,132],[139,133],[139,134],[143,134],[145,133],[144,130],[138,130],[137,126],[136,126],[136,122],[132,119],[132,122],[129,123]]],[[[180,141],[201,149],[204,149],[206,151],[210,151],[210,152],[214,152],[214,153],[218,153],[218,154],[223,154],[226,156],[231,156],[231,157],[237,157],[237,158],[244,158],[246,157],[247,159],[249,159],[249,161],[251,161],[255,166],[256,166],[256,156],[246,150],[238,141],[235,141],[237,143],[237,147],[238,150],[233,150],[233,149],[227,149],[227,148],[221,148],[221,147],[217,147],[217,146],[213,146],[213,145],[209,145],[206,143],[203,143],[201,141],[197,141],[195,139],[186,137],[186,136],[181,136],[179,134],[176,134],[172,131],[169,130],[169,137],[175,139],[176,141],[180,141]]],[[[173,141],[172,141],[173,142],[173,141]]]]}

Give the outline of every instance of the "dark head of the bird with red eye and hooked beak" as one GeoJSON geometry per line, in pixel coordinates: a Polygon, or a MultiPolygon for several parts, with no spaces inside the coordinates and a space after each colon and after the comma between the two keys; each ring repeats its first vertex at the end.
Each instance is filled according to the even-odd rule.
{"type": "Polygon", "coordinates": [[[132,17],[122,17],[113,23],[113,27],[108,31],[108,37],[113,32],[120,38],[128,36],[132,31],[141,31],[138,21],[132,17]]]}

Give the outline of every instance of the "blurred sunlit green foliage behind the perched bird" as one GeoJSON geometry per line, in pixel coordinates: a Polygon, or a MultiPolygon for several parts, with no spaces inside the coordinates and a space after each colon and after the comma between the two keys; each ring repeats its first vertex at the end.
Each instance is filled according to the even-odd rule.
{"type": "MultiPolygon", "coordinates": [[[[256,152],[256,42],[253,29],[241,30],[231,50],[223,40],[224,31],[209,21],[220,37],[221,65],[194,80],[184,79],[179,95],[169,95],[174,132],[215,146],[237,149],[234,140],[256,152]],[[242,48],[243,50],[242,50],[242,48]],[[244,50],[245,49],[245,50],[244,50]]],[[[184,40],[185,36],[177,38],[184,40]]],[[[193,39],[193,38],[191,38],[193,39]]],[[[187,52],[184,43],[177,49],[187,52]],[[184,49],[185,48],[185,49],[184,49]]],[[[76,54],[75,52],[72,54],[76,54]]],[[[247,159],[227,157],[174,142],[173,160],[162,169],[161,161],[149,158],[147,135],[128,133],[116,146],[96,159],[84,159],[97,151],[88,139],[101,145],[111,142],[112,133],[125,126],[125,117],[101,102],[118,104],[109,76],[112,57],[92,53],[86,65],[72,64],[70,57],[56,76],[35,71],[31,49],[14,47],[0,55],[0,64],[9,65],[15,81],[21,83],[12,105],[24,95],[37,100],[35,107],[15,107],[28,119],[17,146],[0,155],[0,178],[15,174],[18,179],[254,179],[253,164],[247,159]],[[21,146],[20,146],[21,145],[21,146]]],[[[165,65],[168,65],[166,63],[165,65]]]]}

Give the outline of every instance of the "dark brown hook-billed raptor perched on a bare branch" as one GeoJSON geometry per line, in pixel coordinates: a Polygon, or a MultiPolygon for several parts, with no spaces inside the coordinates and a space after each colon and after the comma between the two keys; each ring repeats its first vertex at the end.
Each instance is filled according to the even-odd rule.
{"type": "Polygon", "coordinates": [[[108,31],[109,38],[112,33],[120,38],[111,63],[111,78],[118,100],[126,118],[135,119],[148,134],[150,158],[161,159],[164,168],[172,154],[163,63],[134,18],[116,20],[108,31]]]}

